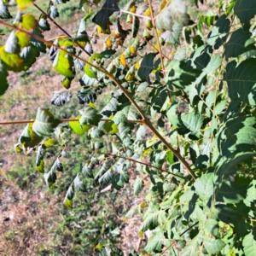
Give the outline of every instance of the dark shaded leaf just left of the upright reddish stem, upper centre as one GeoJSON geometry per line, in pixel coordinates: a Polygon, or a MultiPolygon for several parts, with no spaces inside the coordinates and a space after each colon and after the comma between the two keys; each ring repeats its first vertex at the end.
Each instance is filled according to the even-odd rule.
{"type": "Polygon", "coordinates": [[[138,77],[143,81],[147,81],[148,83],[150,83],[149,74],[155,68],[153,63],[154,57],[155,57],[154,53],[146,54],[137,71],[138,77]]]}

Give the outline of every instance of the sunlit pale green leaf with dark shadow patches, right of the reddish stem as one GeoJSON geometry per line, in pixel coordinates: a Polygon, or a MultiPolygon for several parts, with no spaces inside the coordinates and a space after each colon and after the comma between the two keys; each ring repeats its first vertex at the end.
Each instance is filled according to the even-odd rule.
{"type": "Polygon", "coordinates": [[[172,90],[172,85],[178,89],[184,89],[186,86],[200,76],[201,71],[190,67],[184,61],[172,60],[170,64],[166,67],[166,83],[168,88],[172,90]]]}

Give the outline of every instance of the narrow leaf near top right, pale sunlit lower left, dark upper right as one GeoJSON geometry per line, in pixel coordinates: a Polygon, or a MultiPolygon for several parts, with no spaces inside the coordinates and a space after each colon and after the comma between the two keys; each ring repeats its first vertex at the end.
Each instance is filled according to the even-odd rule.
{"type": "Polygon", "coordinates": [[[226,15],[222,15],[212,26],[212,30],[208,35],[208,44],[213,45],[214,49],[218,49],[226,41],[229,31],[230,20],[226,15]]]}

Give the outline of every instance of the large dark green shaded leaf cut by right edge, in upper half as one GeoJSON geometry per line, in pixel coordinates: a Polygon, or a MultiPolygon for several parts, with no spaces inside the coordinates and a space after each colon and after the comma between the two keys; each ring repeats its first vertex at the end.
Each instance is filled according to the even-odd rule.
{"type": "Polygon", "coordinates": [[[242,61],[236,67],[236,61],[231,61],[226,67],[224,80],[229,86],[229,96],[247,104],[256,105],[256,59],[242,61]]]}

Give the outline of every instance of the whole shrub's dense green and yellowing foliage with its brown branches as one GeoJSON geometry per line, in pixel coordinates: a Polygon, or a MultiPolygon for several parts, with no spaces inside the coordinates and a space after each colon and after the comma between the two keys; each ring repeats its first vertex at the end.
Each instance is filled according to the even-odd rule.
{"type": "MultiPolygon", "coordinates": [[[[148,0],[121,9],[116,0],[82,0],[86,15],[76,34],[60,26],[61,36],[50,40],[44,32],[56,25],[58,4],[67,1],[49,1],[39,19],[26,13],[31,4],[38,8],[32,0],[16,1],[15,19],[8,2],[0,2],[0,24],[13,30],[0,48],[1,95],[9,71],[26,71],[47,52],[65,88],[52,104],[70,102],[75,78],[81,85],[76,118],[67,123],[38,108],[15,145],[25,154],[36,149],[35,168],[49,189],[65,172],[61,159],[75,133],[90,151],[69,184],[67,207],[76,191],[86,193],[84,180],[119,190],[132,169],[135,195],[145,174],[151,182],[138,206],[145,210],[141,231],[152,234],[147,253],[256,255],[256,2],[148,0]],[[90,22],[96,24],[92,32],[90,22]],[[101,94],[109,99],[104,106],[101,94]],[[45,166],[45,153],[56,145],[61,151],[45,166]]],[[[122,255],[101,244],[95,251],[122,255]]]]}

